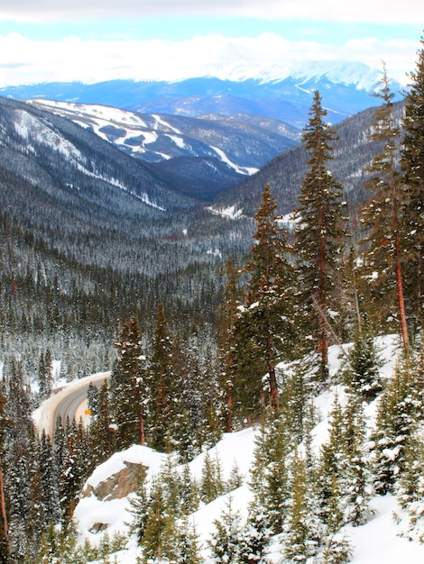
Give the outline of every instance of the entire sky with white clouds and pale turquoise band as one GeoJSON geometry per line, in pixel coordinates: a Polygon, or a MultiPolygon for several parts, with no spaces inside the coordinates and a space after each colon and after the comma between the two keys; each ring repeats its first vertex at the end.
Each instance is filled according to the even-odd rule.
{"type": "Polygon", "coordinates": [[[358,61],[408,84],[422,0],[0,0],[0,87],[116,78],[277,79],[358,61]]]}

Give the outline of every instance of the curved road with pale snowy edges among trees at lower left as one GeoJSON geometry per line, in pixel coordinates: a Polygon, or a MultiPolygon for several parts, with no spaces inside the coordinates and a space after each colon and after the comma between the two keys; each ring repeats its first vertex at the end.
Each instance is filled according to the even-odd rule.
{"type": "Polygon", "coordinates": [[[32,419],[39,434],[44,431],[52,438],[54,436],[55,424],[59,417],[62,421],[79,421],[82,418],[88,422],[87,393],[90,384],[101,387],[106,379],[110,377],[110,372],[97,372],[86,378],[80,378],[69,382],[60,391],[46,399],[40,407],[32,414],[32,419]]]}

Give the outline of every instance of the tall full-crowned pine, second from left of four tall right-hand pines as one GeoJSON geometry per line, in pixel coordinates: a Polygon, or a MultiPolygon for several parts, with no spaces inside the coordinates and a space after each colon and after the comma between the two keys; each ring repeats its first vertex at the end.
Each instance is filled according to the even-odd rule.
{"type": "Polygon", "coordinates": [[[309,152],[309,172],[300,188],[300,204],[295,211],[299,286],[308,306],[307,323],[312,324],[312,336],[320,356],[318,379],[321,382],[328,378],[328,310],[347,237],[341,200],[343,187],[327,169],[328,161],[332,159],[335,133],[324,122],[326,115],[316,91],[302,138],[309,152]]]}

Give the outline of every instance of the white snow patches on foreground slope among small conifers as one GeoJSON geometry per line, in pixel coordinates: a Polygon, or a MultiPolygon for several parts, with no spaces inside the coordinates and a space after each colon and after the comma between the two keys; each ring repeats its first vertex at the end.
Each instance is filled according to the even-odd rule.
{"type": "MultiPolygon", "coordinates": [[[[382,358],[385,364],[382,374],[390,378],[397,359],[399,341],[395,337],[381,339],[378,345],[382,350],[382,358]]],[[[333,347],[330,350],[331,370],[334,373],[340,364],[340,350],[333,347]]],[[[321,414],[321,421],[318,423],[314,432],[314,444],[318,448],[327,440],[327,414],[333,405],[335,394],[341,403],[344,401],[344,392],[341,387],[331,387],[321,396],[318,396],[316,405],[321,414]]],[[[375,405],[370,405],[367,409],[367,416],[373,418],[375,405]]],[[[254,428],[244,429],[243,431],[225,434],[217,445],[209,450],[211,459],[219,458],[222,465],[223,478],[230,476],[231,470],[235,467],[244,476],[244,485],[237,488],[231,494],[226,494],[217,498],[207,505],[201,505],[198,511],[192,514],[192,522],[196,526],[196,531],[204,547],[203,556],[205,564],[211,564],[212,559],[208,554],[207,540],[210,539],[214,531],[214,520],[217,519],[226,508],[228,496],[232,497],[232,506],[235,511],[239,511],[244,517],[246,506],[251,497],[247,479],[249,468],[253,462],[253,449],[258,430],[254,428]]],[[[93,475],[88,479],[88,484],[96,486],[108,476],[115,474],[124,467],[124,460],[141,462],[149,467],[147,479],[161,468],[167,455],[155,452],[148,447],[134,446],[123,452],[114,454],[104,464],[99,466],[93,475]]],[[[206,452],[200,454],[196,459],[189,463],[191,474],[200,480],[206,452]]],[[[375,510],[373,517],[362,526],[352,527],[346,525],[345,530],[354,547],[352,555],[353,564],[422,564],[424,562],[424,545],[415,541],[408,541],[401,537],[401,524],[393,519],[393,512],[401,516],[401,508],[397,505],[393,496],[376,496],[371,505],[375,510]]],[[[113,534],[116,531],[128,532],[128,522],[131,515],[128,513],[129,501],[127,498],[100,502],[96,496],[91,495],[83,498],[75,511],[75,520],[81,539],[88,537],[90,541],[97,542],[99,534],[92,534],[89,529],[94,523],[110,523],[108,532],[113,534]]],[[[116,553],[119,564],[135,564],[136,557],[140,552],[137,549],[134,538],[130,539],[127,550],[116,553]]],[[[270,564],[281,564],[281,552],[278,544],[272,547],[272,553],[268,557],[270,564]]],[[[311,562],[312,564],[312,562],[311,562]]]]}

